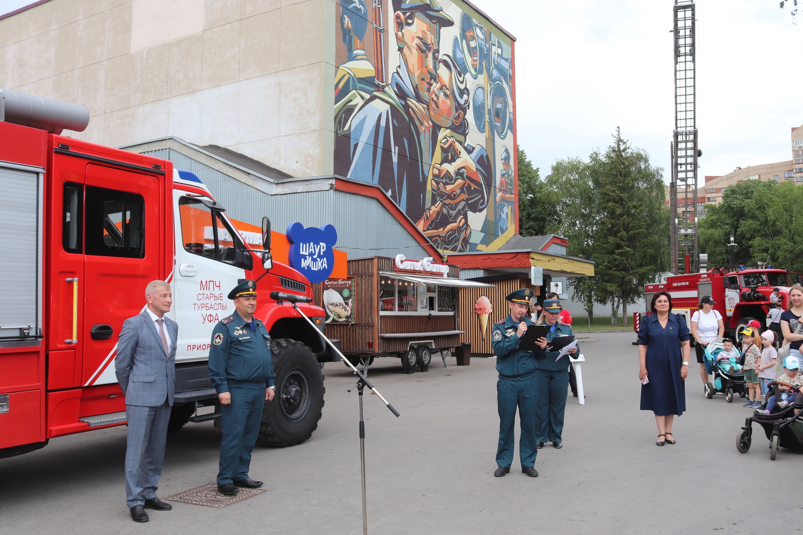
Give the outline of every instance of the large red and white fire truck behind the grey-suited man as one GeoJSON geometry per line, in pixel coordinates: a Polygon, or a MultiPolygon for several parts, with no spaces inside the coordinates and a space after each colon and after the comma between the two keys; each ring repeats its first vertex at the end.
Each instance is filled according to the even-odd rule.
{"type": "Polygon", "coordinates": [[[63,109],[52,122],[47,110],[20,120],[25,110],[10,110],[9,99],[6,92],[6,121],[39,128],[2,122],[0,93],[0,458],[125,424],[117,337],[124,319],[144,310],[153,279],[172,284],[169,316],[179,324],[169,429],[218,424],[207,375],[212,328],[234,311],[229,290],[265,274],[263,262],[255,316],[274,339],[277,396],[265,405],[259,440],[307,440],[324,405],[320,363],[333,360],[324,310],[300,304],[316,330],[270,294],[312,297],[308,280],[251,249],[197,176],[169,160],[56,135],[63,109]]]}

